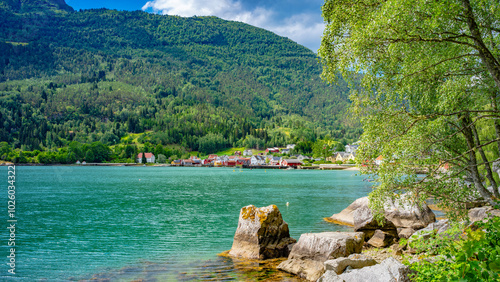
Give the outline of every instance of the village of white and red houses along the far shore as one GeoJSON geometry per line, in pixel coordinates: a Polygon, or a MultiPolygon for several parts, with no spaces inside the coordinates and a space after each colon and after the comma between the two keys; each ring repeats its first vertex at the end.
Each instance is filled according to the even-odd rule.
{"type": "MultiPolygon", "coordinates": [[[[314,162],[323,162],[325,164],[343,165],[354,164],[356,159],[356,150],[359,145],[346,145],[345,152],[333,152],[331,156],[326,158],[312,158],[301,154],[291,154],[295,144],[288,144],[286,147],[267,148],[265,152],[254,154],[253,150],[247,149],[235,151],[234,155],[216,155],[210,154],[202,159],[197,156],[191,156],[189,159],[177,159],[170,163],[170,166],[186,166],[186,167],[243,167],[243,168],[315,168],[312,166],[314,162]]],[[[153,153],[139,153],[137,155],[137,163],[142,163],[145,159],[146,163],[155,164],[156,157],[153,153]]],[[[324,166],[323,166],[324,167],[324,166]]]]}

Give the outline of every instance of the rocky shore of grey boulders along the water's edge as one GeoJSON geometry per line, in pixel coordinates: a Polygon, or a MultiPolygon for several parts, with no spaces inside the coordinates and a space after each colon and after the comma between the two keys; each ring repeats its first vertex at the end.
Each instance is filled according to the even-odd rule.
{"type": "MultiPolygon", "coordinates": [[[[275,267],[307,281],[410,281],[410,269],[402,263],[419,256],[407,242],[440,234],[450,228],[447,219],[436,221],[425,204],[408,204],[407,195],[384,205],[384,220],[378,222],[368,197],[354,201],[326,221],[348,225],[354,232],[289,235],[288,224],[275,205],[243,207],[231,250],[234,259],[279,260],[275,267]],[[404,239],[404,240],[401,240],[404,239]]],[[[500,216],[500,210],[477,207],[469,211],[469,222],[500,216]]]]}

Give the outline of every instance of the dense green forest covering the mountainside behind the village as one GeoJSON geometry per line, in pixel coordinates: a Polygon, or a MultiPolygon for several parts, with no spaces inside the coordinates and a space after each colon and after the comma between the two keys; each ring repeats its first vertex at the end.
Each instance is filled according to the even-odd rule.
{"type": "Polygon", "coordinates": [[[309,49],[240,22],[0,0],[0,158],[356,141],[347,84],[320,73],[309,49]]]}

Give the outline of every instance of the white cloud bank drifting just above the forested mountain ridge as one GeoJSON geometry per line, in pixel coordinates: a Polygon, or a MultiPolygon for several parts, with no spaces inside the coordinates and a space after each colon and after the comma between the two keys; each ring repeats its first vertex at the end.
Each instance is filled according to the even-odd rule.
{"type": "Polygon", "coordinates": [[[217,16],[244,22],[286,36],[315,52],[324,29],[321,17],[316,15],[297,14],[279,18],[277,13],[263,7],[245,10],[241,2],[233,0],[153,0],[142,7],[142,10],[148,9],[164,15],[217,16]]]}

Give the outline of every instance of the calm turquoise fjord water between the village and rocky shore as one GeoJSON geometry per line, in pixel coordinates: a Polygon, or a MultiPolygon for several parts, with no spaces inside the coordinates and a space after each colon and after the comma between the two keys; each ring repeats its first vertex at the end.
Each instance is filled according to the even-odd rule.
{"type": "Polygon", "coordinates": [[[276,204],[296,239],[345,230],[323,218],[368,194],[370,183],[356,173],[18,166],[13,276],[7,272],[7,168],[1,167],[0,280],[162,281],[186,273],[197,280],[207,271],[202,265],[227,263],[217,254],[231,248],[243,206],[276,204]]]}

